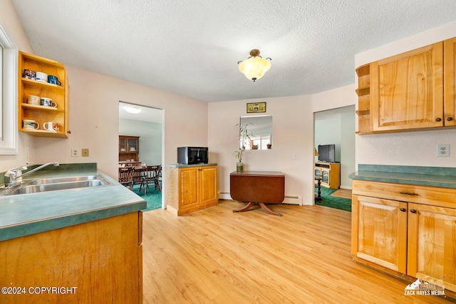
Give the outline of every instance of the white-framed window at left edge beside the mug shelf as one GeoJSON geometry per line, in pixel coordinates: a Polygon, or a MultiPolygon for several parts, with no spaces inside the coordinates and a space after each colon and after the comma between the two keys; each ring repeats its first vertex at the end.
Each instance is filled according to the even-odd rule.
{"type": "Polygon", "coordinates": [[[0,154],[17,154],[18,49],[0,20],[0,154]]]}

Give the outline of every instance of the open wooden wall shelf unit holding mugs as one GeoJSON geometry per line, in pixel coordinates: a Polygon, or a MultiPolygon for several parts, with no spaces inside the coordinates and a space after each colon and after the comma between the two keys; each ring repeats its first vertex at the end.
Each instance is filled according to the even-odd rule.
{"type": "Polygon", "coordinates": [[[19,52],[18,83],[19,131],[32,136],[68,138],[69,88],[63,64],[19,52]],[[26,75],[24,70],[28,70],[26,75]],[[48,82],[48,75],[54,76],[54,83],[48,82]],[[37,76],[43,80],[37,80],[37,76]]]}

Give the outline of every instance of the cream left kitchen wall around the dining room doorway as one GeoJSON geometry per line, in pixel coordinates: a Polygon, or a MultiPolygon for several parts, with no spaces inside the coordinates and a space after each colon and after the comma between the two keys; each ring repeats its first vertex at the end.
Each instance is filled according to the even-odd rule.
{"type": "MultiPolygon", "coordinates": [[[[164,109],[165,155],[162,163],[177,162],[177,147],[207,146],[207,103],[133,82],[66,66],[70,83],[69,139],[36,138],[36,163],[98,163],[112,178],[118,175],[118,102],[164,109]],[[190,119],[191,118],[191,119],[190,119]],[[88,148],[90,156],[71,157],[71,148],[88,148]]],[[[163,170],[163,187],[167,173],[163,170]]],[[[166,192],[163,192],[166,202],[166,192]]]]}

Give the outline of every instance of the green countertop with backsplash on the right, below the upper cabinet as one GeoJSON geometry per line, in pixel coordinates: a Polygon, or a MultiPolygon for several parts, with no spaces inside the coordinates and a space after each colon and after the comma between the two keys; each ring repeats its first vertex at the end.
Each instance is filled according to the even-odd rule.
{"type": "Polygon", "coordinates": [[[359,164],[358,171],[348,177],[353,180],[456,188],[456,168],[359,164]]]}

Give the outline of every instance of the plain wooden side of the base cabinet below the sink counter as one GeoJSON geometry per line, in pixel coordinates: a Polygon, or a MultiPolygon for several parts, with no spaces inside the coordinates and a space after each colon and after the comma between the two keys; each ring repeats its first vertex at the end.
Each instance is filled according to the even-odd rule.
{"type": "Polygon", "coordinates": [[[141,243],[142,212],[0,241],[0,303],[142,303],[141,243]]]}

